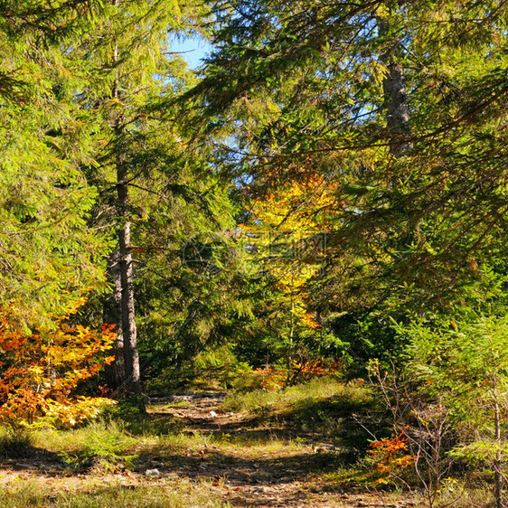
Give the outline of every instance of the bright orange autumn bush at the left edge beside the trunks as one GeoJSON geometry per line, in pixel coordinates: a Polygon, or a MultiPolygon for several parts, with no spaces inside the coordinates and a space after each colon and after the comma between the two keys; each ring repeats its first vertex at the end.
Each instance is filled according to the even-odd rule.
{"type": "Polygon", "coordinates": [[[115,340],[112,327],[90,330],[71,325],[66,314],[52,316],[49,324],[25,330],[14,311],[0,308],[0,421],[13,427],[72,426],[98,414],[111,400],[74,395],[80,381],[97,374],[104,352],[115,340]],[[101,354],[102,353],[102,354],[101,354]]]}

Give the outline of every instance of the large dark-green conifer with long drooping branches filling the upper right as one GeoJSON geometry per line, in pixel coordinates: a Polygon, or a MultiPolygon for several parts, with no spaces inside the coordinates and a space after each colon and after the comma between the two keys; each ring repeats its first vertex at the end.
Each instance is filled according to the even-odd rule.
{"type": "Polygon", "coordinates": [[[337,183],[315,308],[375,321],[456,305],[505,250],[506,5],[213,8],[193,91],[234,126],[239,181],[255,196],[309,173],[337,183]]]}

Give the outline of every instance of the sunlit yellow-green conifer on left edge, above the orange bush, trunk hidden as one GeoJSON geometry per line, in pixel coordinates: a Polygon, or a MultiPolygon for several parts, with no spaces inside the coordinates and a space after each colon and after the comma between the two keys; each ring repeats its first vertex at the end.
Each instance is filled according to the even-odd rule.
{"type": "Polygon", "coordinates": [[[97,193],[80,171],[89,147],[70,56],[99,14],[93,0],[0,5],[0,300],[29,326],[104,282],[104,239],[84,227],[97,193]]]}

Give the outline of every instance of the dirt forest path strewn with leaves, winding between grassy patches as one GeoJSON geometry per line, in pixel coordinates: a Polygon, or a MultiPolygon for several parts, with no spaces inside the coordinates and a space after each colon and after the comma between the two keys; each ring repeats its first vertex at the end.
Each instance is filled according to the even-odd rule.
{"type": "Polygon", "coordinates": [[[223,409],[225,393],[195,393],[152,400],[149,415],[171,419],[184,435],[195,438],[183,455],[157,466],[163,475],[212,480],[222,499],[232,506],[356,507],[413,506],[380,493],[343,492],[323,481],[340,462],[341,452],[332,440],[324,441],[312,429],[297,432],[282,418],[252,416],[223,409]]]}

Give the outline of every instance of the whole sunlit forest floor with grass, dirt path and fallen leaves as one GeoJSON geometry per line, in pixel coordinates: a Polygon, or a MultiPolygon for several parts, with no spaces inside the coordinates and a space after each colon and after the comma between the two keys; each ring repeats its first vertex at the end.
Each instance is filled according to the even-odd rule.
{"type": "Polygon", "coordinates": [[[152,399],[147,417],[124,414],[126,423],[43,428],[0,449],[10,456],[0,506],[422,506],[351,483],[372,400],[356,388],[318,391],[187,393],[152,399]]]}

